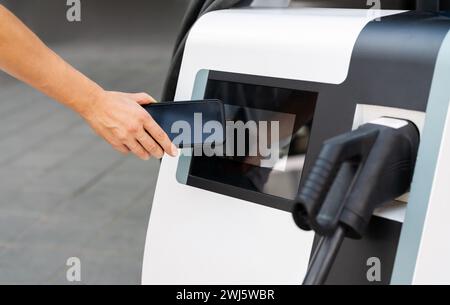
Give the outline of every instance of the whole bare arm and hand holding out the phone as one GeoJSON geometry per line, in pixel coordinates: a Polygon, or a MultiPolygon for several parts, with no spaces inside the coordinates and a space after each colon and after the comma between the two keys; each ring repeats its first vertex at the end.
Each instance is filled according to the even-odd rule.
{"type": "Polygon", "coordinates": [[[0,69],[71,108],[123,154],[148,160],[177,149],[140,105],[147,93],[106,91],[50,50],[16,16],[0,5],[0,69]]]}

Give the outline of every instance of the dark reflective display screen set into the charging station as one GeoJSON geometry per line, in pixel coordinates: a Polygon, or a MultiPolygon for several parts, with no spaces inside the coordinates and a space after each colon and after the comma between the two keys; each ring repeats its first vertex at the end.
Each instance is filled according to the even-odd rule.
{"type": "MultiPolygon", "coordinates": [[[[194,156],[187,184],[253,202],[297,195],[317,93],[208,79],[206,99],[224,102],[220,156],[194,156]]],[[[261,202],[260,202],[261,203],[261,202]]]]}

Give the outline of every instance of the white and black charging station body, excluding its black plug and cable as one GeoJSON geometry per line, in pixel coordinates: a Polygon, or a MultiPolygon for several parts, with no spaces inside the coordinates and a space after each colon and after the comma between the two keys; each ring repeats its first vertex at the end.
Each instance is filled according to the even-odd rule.
{"type": "Polygon", "coordinates": [[[201,17],[176,100],[221,99],[228,119],[280,121],[273,167],[164,158],[143,284],[300,284],[314,243],[290,213],[324,140],[382,116],[416,124],[411,191],[346,239],[327,283],[450,283],[450,18],[410,11],[232,9],[201,17]],[[447,272],[449,271],[449,272],[447,272]]]}

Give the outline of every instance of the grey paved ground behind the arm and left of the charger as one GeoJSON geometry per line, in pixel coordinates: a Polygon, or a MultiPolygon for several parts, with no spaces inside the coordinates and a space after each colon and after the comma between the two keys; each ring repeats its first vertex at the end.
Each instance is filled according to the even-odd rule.
{"type": "MultiPolygon", "coordinates": [[[[131,28],[132,38],[90,33],[51,47],[107,89],[159,97],[183,6],[165,11],[151,28],[131,28]]],[[[0,284],[67,284],[72,256],[81,283],[139,283],[158,169],[0,73],[0,284]]]]}

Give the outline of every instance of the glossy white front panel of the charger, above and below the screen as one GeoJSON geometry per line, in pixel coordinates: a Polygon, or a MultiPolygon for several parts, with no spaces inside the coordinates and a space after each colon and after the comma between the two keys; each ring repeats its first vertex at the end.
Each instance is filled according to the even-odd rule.
{"type": "MultiPolygon", "coordinates": [[[[202,69],[339,84],[371,18],[366,10],[332,9],[208,14],[191,30],[176,99],[191,98],[202,69]]],[[[299,230],[290,213],[178,183],[177,161],[161,164],[144,284],[301,283],[312,233],[299,230]]]]}

